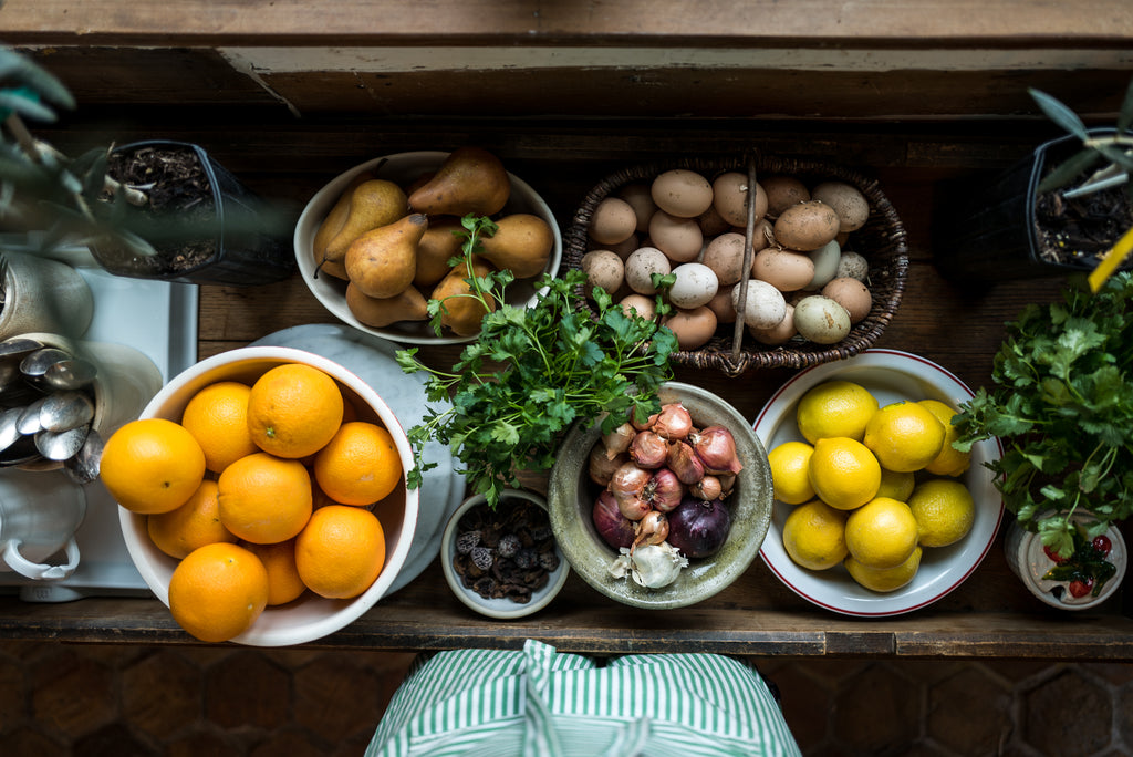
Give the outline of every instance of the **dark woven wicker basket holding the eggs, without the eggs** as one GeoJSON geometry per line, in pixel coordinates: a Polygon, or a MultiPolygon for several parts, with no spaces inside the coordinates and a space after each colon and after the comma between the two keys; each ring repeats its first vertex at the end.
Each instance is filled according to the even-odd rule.
{"type": "MultiPolygon", "coordinates": [[[[578,269],[582,256],[590,248],[587,231],[595,209],[605,197],[628,184],[651,181],[657,175],[676,168],[698,171],[709,180],[724,171],[747,171],[753,163],[756,176],[786,173],[808,185],[823,180],[841,180],[855,186],[869,201],[870,215],[861,229],[854,231],[846,249],[853,249],[869,261],[869,289],[874,305],[863,320],[835,345],[817,345],[795,338],[786,345],[769,347],[750,334],[741,333],[739,352],[734,349],[733,325],[721,324],[716,334],[696,350],[673,352],[673,363],[698,368],[716,368],[730,376],[738,376],[749,368],[804,368],[820,363],[853,357],[870,347],[893,317],[904,291],[909,269],[909,249],[905,229],[893,205],[878,189],[877,182],[852,170],[837,165],[775,156],[723,159],[682,159],[665,163],[650,163],[623,169],[603,179],[591,189],[574,212],[574,218],[563,239],[563,265],[578,269]]],[[[580,298],[588,301],[580,292],[580,298]]],[[[589,307],[589,305],[587,305],[589,307]]]]}

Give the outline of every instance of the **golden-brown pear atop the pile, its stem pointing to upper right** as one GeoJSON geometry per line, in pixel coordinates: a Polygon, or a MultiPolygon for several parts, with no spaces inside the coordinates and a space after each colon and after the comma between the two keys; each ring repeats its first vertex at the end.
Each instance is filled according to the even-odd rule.
{"type": "Polygon", "coordinates": [[[417,270],[417,243],[428,228],[428,216],[414,213],[370,229],[347,250],[347,275],[361,294],[384,299],[403,292],[417,270]]]}

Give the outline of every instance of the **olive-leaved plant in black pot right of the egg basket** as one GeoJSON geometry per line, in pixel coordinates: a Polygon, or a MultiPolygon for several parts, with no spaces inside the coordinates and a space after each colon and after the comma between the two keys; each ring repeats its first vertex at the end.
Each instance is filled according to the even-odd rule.
{"type": "Polygon", "coordinates": [[[949,279],[994,284],[1090,272],[1119,241],[1133,244],[1133,80],[1114,127],[1088,128],[1055,97],[1030,94],[1067,134],[988,181],[947,188],[934,250],[949,279]]]}

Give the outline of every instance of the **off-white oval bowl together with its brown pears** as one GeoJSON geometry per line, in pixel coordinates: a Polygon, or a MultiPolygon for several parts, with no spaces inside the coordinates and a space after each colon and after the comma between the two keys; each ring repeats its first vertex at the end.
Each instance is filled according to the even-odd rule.
{"type": "Polygon", "coordinates": [[[339,175],[299,216],[296,262],[315,298],[360,331],[417,345],[471,341],[482,314],[446,316],[440,335],[427,314],[427,300],[467,288],[466,270],[449,261],[461,255],[466,238],[454,232],[469,213],[499,226],[478,254],[514,274],[508,303],[534,300],[542,274],[554,275],[562,261],[559,224],[530,186],[480,147],[397,153],[339,175]]]}

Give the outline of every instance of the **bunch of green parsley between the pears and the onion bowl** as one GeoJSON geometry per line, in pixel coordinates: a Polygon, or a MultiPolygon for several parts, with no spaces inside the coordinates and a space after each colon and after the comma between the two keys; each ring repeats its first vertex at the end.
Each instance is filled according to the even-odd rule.
{"type": "MultiPolygon", "coordinates": [[[[544,274],[534,304],[506,304],[503,295],[512,274],[476,277],[470,264],[482,235],[493,233],[495,224],[468,215],[462,226],[462,256],[450,263],[466,266],[468,297],[499,305],[486,307],[492,312],[479,335],[451,371],[426,366],[417,348],[398,351],[403,371],[428,372],[431,402],[451,401],[443,412],[427,408],[421,423],[407,432],[415,453],[409,485],[419,486],[421,474],[436,466],[421,458],[424,445],[436,439],[449,445],[472,490],[494,508],[504,488],[520,485],[519,471],[551,469],[563,432],[573,423],[603,418],[608,432],[629,412],[645,419],[658,411],[657,389],[672,377],[668,355],[676,338],[656,320],[625,315],[600,289],[594,291],[595,314],[576,307],[586,274],[573,269],[562,278],[544,274]]],[[[428,307],[440,334],[445,304],[429,300],[428,307]]]]}

